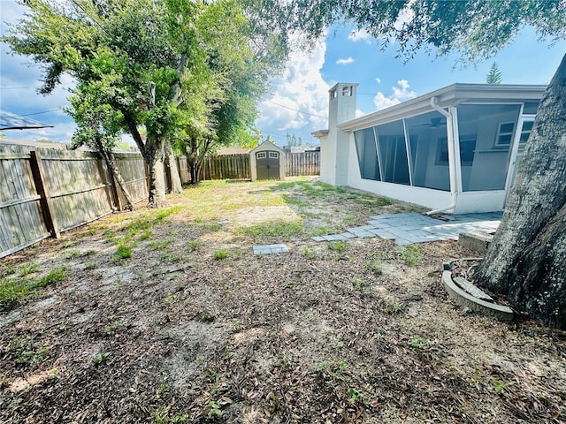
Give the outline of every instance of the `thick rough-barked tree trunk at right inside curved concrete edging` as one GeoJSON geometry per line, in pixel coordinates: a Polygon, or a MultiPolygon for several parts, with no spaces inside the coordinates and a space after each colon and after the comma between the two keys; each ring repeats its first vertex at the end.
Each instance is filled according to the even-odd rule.
{"type": "Polygon", "coordinates": [[[566,57],[540,102],[476,279],[516,308],[566,329],[566,57]]]}

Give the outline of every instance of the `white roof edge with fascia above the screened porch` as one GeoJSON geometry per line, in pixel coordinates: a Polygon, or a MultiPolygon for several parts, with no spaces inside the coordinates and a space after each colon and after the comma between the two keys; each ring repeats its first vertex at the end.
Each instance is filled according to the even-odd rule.
{"type": "Polygon", "coordinates": [[[389,108],[357,117],[339,126],[342,131],[355,131],[374,125],[414,117],[432,111],[431,99],[436,97],[440,107],[456,106],[463,102],[528,102],[539,101],[544,94],[545,85],[509,85],[509,84],[461,84],[456,83],[419,95],[414,99],[395,104],[389,108]]]}

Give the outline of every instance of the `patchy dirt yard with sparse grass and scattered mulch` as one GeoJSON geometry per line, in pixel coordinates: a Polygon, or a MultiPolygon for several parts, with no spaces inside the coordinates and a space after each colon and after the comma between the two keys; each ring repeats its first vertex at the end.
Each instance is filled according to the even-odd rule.
{"type": "Polygon", "coordinates": [[[2,260],[0,422],[566,422],[565,333],[444,292],[473,253],[310,239],[415,206],[308,178],[169,201],[2,260]]]}

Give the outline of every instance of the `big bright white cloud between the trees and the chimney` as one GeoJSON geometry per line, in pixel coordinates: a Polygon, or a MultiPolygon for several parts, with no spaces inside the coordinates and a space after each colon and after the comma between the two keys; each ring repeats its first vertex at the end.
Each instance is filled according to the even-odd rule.
{"type": "Polygon", "coordinates": [[[272,94],[259,104],[256,120],[264,135],[326,128],[329,87],[320,73],[325,51],[325,42],[319,42],[310,55],[294,51],[285,72],[272,79],[272,94]]]}

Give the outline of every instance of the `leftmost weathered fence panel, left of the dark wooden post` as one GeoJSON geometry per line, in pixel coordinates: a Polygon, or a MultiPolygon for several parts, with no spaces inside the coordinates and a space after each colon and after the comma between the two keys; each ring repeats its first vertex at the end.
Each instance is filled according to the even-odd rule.
{"type": "Polygon", "coordinates": [[[28,148],[0,148],[0,257],[48,237],[28,148]]]}

